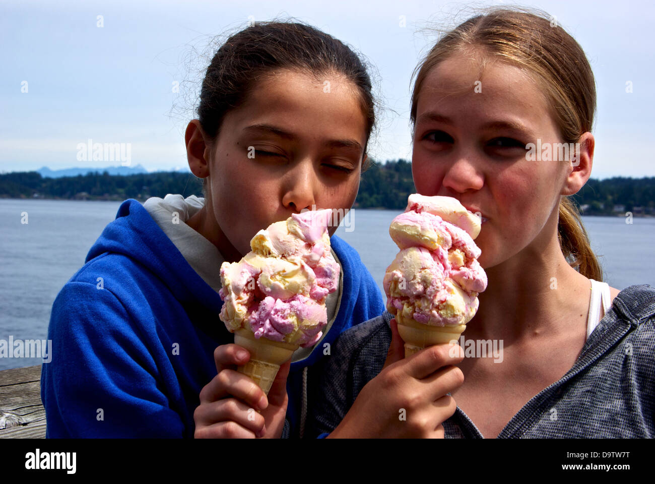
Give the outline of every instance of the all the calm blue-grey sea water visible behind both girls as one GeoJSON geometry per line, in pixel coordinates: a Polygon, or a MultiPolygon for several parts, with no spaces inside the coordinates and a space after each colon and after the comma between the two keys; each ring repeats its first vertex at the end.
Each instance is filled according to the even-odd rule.
{"type": "MultiPolygon", "coordinates": [[[[47,338],[50,309],[65,282],[84,264],[86,253],[121,203],[103,201],[0,200],[0,340],[47,338]],[[27,212],[27,219],[23,212],[27,212]],[[27,221],[27,224],[21,223],[27,221]]],[[[356,210],[345,239],[382,288],[384,270],[398,249],[388,227],[399,211],[356,210]]],[[[618,289],[655,286],[655,218],[585,217],[591,246],[605,281],[618,289]]],[[[41,363],[0,357],[0,370],[41,363]]]]}

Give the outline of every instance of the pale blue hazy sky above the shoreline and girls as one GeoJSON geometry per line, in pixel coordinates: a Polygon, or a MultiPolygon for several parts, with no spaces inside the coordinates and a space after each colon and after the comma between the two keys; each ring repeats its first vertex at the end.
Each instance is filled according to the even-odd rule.
{"type": "MultiPolygon", "coordinates": [[[[430,28],[451,28],[472,16],[471,7],[500,4],[3,0],[0,172],[120,164],[80,161],[80,144],[88,140],[129,146],[131,165],[148,171],[185,169],[184,130],[195,117],[196,92],[216,36],[250,20],[289,17],[345,41],[374,66],[381,111],[369,155],[409,160],[411,74],[434,45],[430,28]]],[[[588,56],[598,98],[592,178],[655,176],[654,4],[518,5],[546,10],[588,56]]]]}

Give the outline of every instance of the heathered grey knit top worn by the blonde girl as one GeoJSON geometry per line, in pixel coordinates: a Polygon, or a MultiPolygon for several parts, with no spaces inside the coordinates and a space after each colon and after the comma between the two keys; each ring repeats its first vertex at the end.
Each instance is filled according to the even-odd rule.
{"type": "MultiPolygon", "coordinates": [[[[334,430],[380,373],[392,317],[385,312],[345,331],[312,372],[320,382],[310,393],[307,436],[334,430]]],[[[526,403],[498,438],[652,438],[654,407],[655,289],[631,286],[616,296],[573,367],[526,403]]],[[[483,437],[459,407],[443,429],[447,438],[483,437]]]]}

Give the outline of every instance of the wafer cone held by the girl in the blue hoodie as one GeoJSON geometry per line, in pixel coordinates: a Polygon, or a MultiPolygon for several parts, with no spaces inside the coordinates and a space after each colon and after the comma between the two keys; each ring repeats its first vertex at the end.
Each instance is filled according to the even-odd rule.
{"type": "Polygon", "coordinates": [[[234,344],[250,352],[250,361],[237,368],[239,373],[250,376],[264,393],[269,394],[280,365],[291,358],[299,348],[297,344],[255,338],[252,331],[239,329],[234,332],[234,344]]]}

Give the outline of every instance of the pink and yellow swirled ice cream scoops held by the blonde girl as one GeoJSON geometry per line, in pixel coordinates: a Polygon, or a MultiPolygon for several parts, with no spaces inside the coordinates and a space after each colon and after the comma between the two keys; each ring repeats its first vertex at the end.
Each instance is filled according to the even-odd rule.
{"type": "Polygon", "coordinates": [[[389,228],[400,252],[383,281],[386,308],[399,324],[462,327],[474,317],[487,287],[473,241],[479,232],[480,218],[457,199],[409,195],[389,228]]]}

